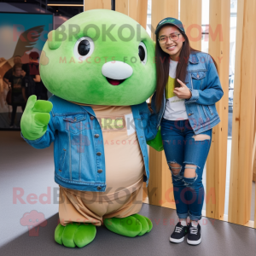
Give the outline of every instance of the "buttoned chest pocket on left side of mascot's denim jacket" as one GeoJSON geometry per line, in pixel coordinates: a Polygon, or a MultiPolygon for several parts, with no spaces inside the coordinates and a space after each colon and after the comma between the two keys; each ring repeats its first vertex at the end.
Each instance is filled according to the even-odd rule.
{"type": "Polygon", "coordinates": [[[66,115],[63,118],[65,123],[65,130],[70,131],[73,134],[83,131],[84,129],[86,129],[86,118],[86,113],[66,115]]]}

